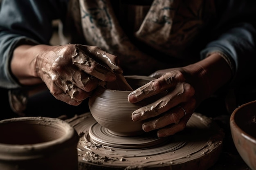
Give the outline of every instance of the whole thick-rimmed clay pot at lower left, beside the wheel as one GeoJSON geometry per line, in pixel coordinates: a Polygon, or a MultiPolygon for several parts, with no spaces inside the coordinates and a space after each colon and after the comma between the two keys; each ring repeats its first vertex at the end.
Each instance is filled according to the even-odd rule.
{"type": "Polygon", "coordinates": [[[77,170],[74,128],[61,119],[19,117],[0,121],[0,170],[77,170]]]}

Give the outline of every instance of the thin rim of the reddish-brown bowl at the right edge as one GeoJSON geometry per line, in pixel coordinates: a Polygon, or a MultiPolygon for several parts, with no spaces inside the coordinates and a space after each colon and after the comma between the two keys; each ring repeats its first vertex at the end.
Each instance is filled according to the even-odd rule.
{"type": "Polygon", "coordinates": [[[245,103],[245,104],[242,104],[241,106],[238,106],[234,111],[233,113],[231,114],[230,116],[230,126],[233,127],[233,130],[237,130],[239,133],[241,133],[241,135],[251,141],[252,143],[256,144],[256,139],[254,137],[252,137],[252,135],[249,135],[247,132],[245,132],[244,130],[242,130],[237,124],[236,124],[236,121],[235,121],[235,116],[236,116],[236,113],[238,112],[238,110],[240,110],[241,108],[245,108],[247,107],[248,105],[251,105],[251,104],[255,104],[256,103],[256,100],[255,101],[252,101],[252,102],[248,102],[248,103],[245,103]]]}

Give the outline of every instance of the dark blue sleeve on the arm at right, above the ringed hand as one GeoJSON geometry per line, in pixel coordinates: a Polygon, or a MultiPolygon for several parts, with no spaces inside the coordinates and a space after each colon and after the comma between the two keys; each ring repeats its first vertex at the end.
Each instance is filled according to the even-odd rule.
{"type": "Polygon", "coordinates": [[[202,59],[216,52],[225,58],[233,73],[231,86],[242,83],[255,72],[255,16],[256,1],[229,1],[213,30],[212,35],[216,38],[201,51],[202,59]]]}

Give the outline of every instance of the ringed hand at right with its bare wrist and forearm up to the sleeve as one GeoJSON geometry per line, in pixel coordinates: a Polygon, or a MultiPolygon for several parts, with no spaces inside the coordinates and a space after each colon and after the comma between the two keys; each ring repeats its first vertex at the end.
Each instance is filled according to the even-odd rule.
{"type": "Polygon", "coordinates": [[[150,77],[157,78],[128,95],[130,103],[167,91],[166,95],[132,113],[132,120],[146,120],[142,129],[157,130],[158,137],[183,130],[195,108],[220,86],[227,83],[231,71],[218,54],[186,67],[159,70],[150,77]],[[222,68],[216,71],[216,66],[222,68]],[[221,76],[220,76],[221,75],[221,76]]]}

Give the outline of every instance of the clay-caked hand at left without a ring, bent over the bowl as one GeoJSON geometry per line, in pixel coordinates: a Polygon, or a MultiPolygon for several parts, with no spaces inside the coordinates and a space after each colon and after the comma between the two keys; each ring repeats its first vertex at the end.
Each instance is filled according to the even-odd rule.
{"type": "Polygon", "coordinates": [[[36,57],[36,72],[56,99],[79,105],[100,81],[114,81],[122,73],[115,55],[96,46],[50,46],[36,57]]]}

